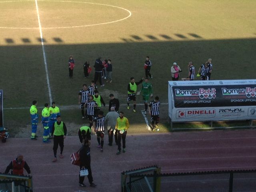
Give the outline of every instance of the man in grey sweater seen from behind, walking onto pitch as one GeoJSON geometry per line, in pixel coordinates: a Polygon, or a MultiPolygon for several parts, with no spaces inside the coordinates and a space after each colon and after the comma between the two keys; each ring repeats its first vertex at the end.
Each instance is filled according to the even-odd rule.
{"type": "MultiPolygon", "coordinates": [[[[105,124],[108,130],[108,145],[112,146],[113,143],[113,133],[116,126],[116,119],[119,117],[119,114],[115,112],[115,108],[111,107],[110,112],[106,114],[105,124]]],[[[115,142],[117,144],[117,133],[115,133],[115,142]]]]}

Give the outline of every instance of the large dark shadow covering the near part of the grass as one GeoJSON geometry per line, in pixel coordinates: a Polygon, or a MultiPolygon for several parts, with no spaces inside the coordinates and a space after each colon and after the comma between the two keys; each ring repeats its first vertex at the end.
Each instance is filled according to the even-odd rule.
{"type": "MultiPolygon", "coordinates": [[[[150,56],[152,62],[150,73],[154,78],[150,82],[153,86],[153,94],[154,96],[158,95],[162,103],[168,101],[167,82],[171,80],[170,67],[173,62],[178,62],[182,68],[180,78],[188,76],[187,64],[190,60],[194,62],[194,66],[198,70],[208,58],[212,58],[214,65],[212,80],[255,78],[255,70],[252,68],[243,68],[242,72],[237,69],[241,68],[241,63],[256,67],[256,38],[186,41],[170,41],[171,37],[169,36],[165,36],[165,38],[166,41],[150,42],[132,42],[134,38],[124,38],[125,43],[46,44],[45,52],[52,99],[57,105],[78,106],[78,91],[82,84],[90,84],[94,77],[93,71],[89,78],[84,78],[83,64],[86,60],[90,61],[90,66],[94,69],[94,61],[99,55],[102,58],[110,58],[113,65],[112,83],[107,83],[104,80],[105,86],[98,88],[106,103],[108,103],[109,94],[113,93],[120,100],[120,104],[126,104],[127,85],[130,82],[130,77],[134,76],[135,81],[139,81],[145,76],[146,56],[150,56]],[[68,77],[70,54],[74,56],[76,63],[72,79],[68,77]]],[[[33,100],[38,101],[38,106],[49,102],[42,46],[28,43],[22,46],[13,46],[10,43],[8,46],[0,47],[0,54],[4,55],[1,60],[0,79],[0,88],[4,90],[4,108],[30,107],[33,100]]],[[[140,88],[141,85],[138,86],[138,90],[140,88]]],[[[137,96],[137,103],[143,104],[142,96],[137,96]]],[[[161,108],[167,108],[167,106],[161,106],[161,108]]],[[[81,118],[79,109],[77,108],[77,110],[78,113],[75,116],[78,117],[74,121],[81,118]]],[[[143,122],[141,116],[126,111],[125,106],[122,106],[122,110],[125,113],[130,113],[132,122],[143,122]]],[[[29,110],[24,110],[28,118],[26,122],[29,123],[28,112],[29,110]]],[[[21,116],[17,114],[15,117],[19,122],[21,116]]],[[[12,120],[11,112],[4,116],[4,121],[7,124],[12,120]]]]}

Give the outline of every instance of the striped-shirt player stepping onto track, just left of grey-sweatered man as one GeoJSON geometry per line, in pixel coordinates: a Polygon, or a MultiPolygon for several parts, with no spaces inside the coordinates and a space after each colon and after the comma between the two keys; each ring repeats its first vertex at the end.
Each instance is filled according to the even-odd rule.
{"type": "Polygon", "coordinates": [[[98,140],[98,148],[100,148],[100,151],[103,152],[103,145],[104,145],[104,123],[105,123],[105,117],[103,116],[103,111],[98,112],[98,117],[94,118],[93,127],[94,131],[97,135],[98,140]]]}

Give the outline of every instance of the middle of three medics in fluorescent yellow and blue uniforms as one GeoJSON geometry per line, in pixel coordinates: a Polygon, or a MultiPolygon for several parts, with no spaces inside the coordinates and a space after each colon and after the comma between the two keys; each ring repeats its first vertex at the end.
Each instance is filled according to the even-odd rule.
{"type": "Polygon", "coordinates": [[[48,140],[49,137],[49,122],[50,122],[50,113],[49,113],[49,104],[44,104],[44,108],[42,110],[42,124],[44,127],[44,134],[43,134],[43,142],[50,143],[51,141],[48,140]]]}

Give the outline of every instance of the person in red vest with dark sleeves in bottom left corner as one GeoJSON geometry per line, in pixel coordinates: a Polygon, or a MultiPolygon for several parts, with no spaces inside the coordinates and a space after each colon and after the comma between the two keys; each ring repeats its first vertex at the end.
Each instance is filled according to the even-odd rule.
{"type": "Polygon", "coordinates": [[[12,160],[10,164],[6,167],[4,174],[8,174],[8,172],[12,169],[11,174],[14,175],[24,175],[23,168],[26,169],[28,174],[30,174],[30,168],[26,161],[23,160],[23,155],[18,155],[16,159],[12,160]]]}

